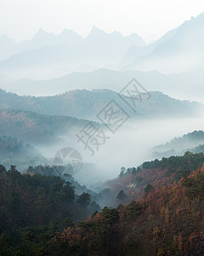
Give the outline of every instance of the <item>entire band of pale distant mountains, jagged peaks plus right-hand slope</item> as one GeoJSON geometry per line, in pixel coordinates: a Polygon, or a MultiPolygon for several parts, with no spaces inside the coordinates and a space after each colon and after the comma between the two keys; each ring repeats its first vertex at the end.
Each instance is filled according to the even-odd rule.
{"type": "Polygon", "coordinates": [[[0,73],[39,79],[97,68],[189,72],[204,66],[203,25],[204,14],[192,17],[148,45],[135,33],[124,37],[95,26],[86,38],[66,29],[59,35],[39,29],[31,40],[16,44],[3,35],[0,73]]]}

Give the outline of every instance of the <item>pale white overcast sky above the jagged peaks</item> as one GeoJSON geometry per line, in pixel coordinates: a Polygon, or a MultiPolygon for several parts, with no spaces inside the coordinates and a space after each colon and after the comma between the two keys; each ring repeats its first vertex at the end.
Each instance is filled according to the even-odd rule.
{"type": "Polygon", "coordinates": [[[86,37],[93,26],[105,32],[133,32],[149,41],[204,12],[203,0],[0,1],[0,36],[31,39],[41,27],[64,28],[86,37]]]}

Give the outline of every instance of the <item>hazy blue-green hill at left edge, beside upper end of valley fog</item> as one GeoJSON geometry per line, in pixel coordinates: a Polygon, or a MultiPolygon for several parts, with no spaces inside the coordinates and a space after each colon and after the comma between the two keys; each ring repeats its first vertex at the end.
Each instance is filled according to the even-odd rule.
{"type": "Polygon", "coordinates": [[[0,109],[0,136],[18,137],[34,145],[62,141],[69,131],[82,128],[88,120],[68,116],[48,116],[29,111],[0,109]]]}

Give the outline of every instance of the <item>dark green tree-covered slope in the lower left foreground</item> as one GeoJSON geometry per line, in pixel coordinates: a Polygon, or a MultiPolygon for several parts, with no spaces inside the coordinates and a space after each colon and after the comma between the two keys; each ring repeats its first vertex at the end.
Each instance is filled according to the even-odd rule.
{"type": "Polygon", "coordinates": [[[99,206],[60,177],[20,174],[0,166],[0,255],[48,255],[54,233],[88,218],[99,206]],[[43,254],[44,252],[44,254],[43,254]]]}

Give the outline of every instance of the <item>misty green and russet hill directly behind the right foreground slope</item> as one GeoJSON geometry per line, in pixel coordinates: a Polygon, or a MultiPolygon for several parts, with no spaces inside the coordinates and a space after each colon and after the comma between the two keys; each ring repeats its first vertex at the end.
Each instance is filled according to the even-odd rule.
{"type": "Polygon", "coordinates": [[[139,200],[144,196],[145,191],[162,189],[163,186],[178,182],[180,178],[187,177],[191,172],[201,168],[203,163],[203,153],[186,152],[183,156],[147,161],[137,168],[123,167],[118,178],[105,183],[105,186],[110,188],[112,193],[115,192],[115,195],[120,191],[125,194],[119,201],[115,197],[111,205],[116,207],[118,202],[124,204],[139,200]]]}

